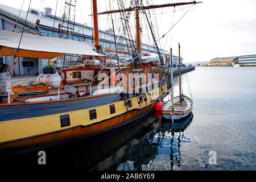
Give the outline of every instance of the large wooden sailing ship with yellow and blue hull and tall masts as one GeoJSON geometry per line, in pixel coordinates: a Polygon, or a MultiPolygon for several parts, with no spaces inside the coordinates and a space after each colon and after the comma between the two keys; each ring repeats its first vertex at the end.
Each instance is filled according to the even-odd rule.
{"type": "MultiPolygon", "coordinates": [[[[122,67],[108,67],[109,57],[102,54],[99,41],[97,16],[100,13],[97,1],[92,2],[94,44],[0,31],[0,53],[11,56],[0,80],[0,151],[47,146],[114,129],[153,110],[156,100],[167,93],[167,76],[161,61],[141,62],[139,10],[146,7],[135,1],[134,8],[105,12],[135,11],[137,24],[133,59],[122,67]],[[19,56],[51,59],[71,54],[88,60],[94,57],[101,65],[64,68],[61,77],[40,75],[36,84],[9,88],[19,56]]],[[[197,2],[159,7],[192,3],[197,2]]]]}

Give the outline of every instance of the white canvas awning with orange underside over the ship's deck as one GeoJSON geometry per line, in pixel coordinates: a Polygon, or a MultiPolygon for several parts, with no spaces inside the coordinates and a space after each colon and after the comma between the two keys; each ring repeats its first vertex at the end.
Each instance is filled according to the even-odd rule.
{"type": "MultiPolygon", "coordinates": [[[[20,36],[18,32],[0,30],[0,55],[12,55],[18,48],[20,36]]],[[[105,56],[94,51],[96,47],[93,43],[24,33],[19,49],[17,54],[22,57],[53,58],[62,54],[105,56]]]]}

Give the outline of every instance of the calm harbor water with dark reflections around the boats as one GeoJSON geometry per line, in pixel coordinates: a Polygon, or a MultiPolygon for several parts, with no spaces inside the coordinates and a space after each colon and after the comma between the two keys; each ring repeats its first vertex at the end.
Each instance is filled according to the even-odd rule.
{"type": "MultiPolygon", "coordinates": [[[[46,148],[46,165],[38,165],[35,151],[1,160],[1,168],[255,170],[256,67],[197,67],[182,75],[190,97],[187,78],[194,109],[180,123],[151,113],[96,137],[46,148]]],[[[177,95],[178,77],[174,82],[177,95]]]]}

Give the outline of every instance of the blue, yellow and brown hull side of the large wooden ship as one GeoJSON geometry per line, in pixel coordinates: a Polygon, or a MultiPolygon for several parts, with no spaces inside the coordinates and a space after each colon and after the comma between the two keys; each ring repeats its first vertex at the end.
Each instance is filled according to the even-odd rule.
{"type": "Polygon", "coordinates": [[[121,93],[59,101],[0,105],[0,151],[24,150],[86,138],[132,122],[154,110],[166,85],[126,101],[121,93]],[[146,100],[146,101],[145,101],[146,100]],[[127,106],[126,106],[127,105],[127,106]],[[113,109],[114,108],[114,109],[113,109]]]}

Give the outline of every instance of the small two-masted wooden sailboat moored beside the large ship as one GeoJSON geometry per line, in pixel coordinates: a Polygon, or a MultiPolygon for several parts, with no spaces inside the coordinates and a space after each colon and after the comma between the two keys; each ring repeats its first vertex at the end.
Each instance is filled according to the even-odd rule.
{"type": "MultiPolygon", "coordinates": [[[[172,49],[171,49],[172,55],[172,49]]],[[[173,74],[172,74],[172,58],[171,58],[171,100],[168,100],[162,107],[163,117],[166,119],[178,120],[187,117],[193,109],[193,101],[191,98],[181,94],[181,77],[180,77],[180,43],[179,43],[179,96],[174,98],[173,74]]]]}

